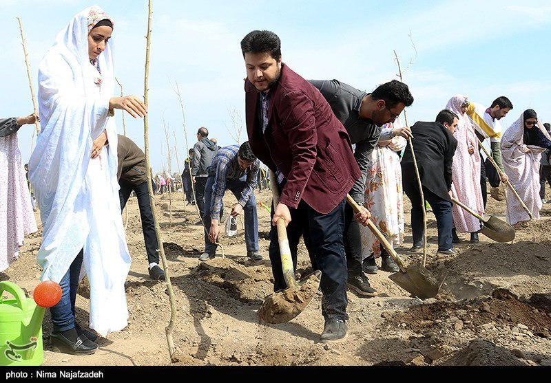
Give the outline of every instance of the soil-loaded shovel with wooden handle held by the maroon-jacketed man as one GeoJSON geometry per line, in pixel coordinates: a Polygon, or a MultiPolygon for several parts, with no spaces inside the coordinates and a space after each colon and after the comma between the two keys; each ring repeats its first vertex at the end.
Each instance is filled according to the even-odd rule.
{"type": "MultiPolygon", "coordinates": [[[[270,171],[270,179],[273,206],[275,208],[275,206],[278,206],[280,196],[278,183],[276,182],[277,179],[272,171],[270,171]]],[[[287,284],[287,289],[274,292],[268,296],[258,310],[260,322],[268,324],[289,322],[289,320],[304,311],[318,292],[322,276],[322,272],[316,270],[312,274],[304,276],[300,281],[296,280],[284,219],[278,219],[276,226],[278,228],[278,243],[280,246],[283,278],[287,284]]]]}

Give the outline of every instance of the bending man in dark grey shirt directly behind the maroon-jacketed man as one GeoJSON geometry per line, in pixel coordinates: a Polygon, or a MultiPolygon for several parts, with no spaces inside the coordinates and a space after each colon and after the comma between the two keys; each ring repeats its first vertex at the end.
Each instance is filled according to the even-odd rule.
{"type": "MultiPolygon", "coordinates": [[[[357,204],[362,206],[362,214],[354,217],[351,206],[346,206],[344,250],[349,270],[347,285],[361,296],[375,296],[377,290],[369,285],[362,270],[360,234],[360,222],[365,221],[366,217],[371,217],[368,210],[363,207],[367,172],[371,166],[369,158],[380,139],[391,140],[396,135],[401,135],[404,138],[413,137],[408,127],[395,128],[381,137],[381,127],[389,122],[394,122],[406,107],[412,105],[413,96],[411,96],[408,86],[397,80],[380,85],[371,94],[338,80],[309,81],[329,102],[335,117],[342,122],[349,133],[352,144],[355,144],[354,157],[360,167],[362,177],[355,182],[350,195],[357,204]]],[[[312,254],[311,259],[313,259],[312,254]]],[[[399,271],[398,266],[390,257],[383,259],[382,268],[389,272],[399,271]]]]}

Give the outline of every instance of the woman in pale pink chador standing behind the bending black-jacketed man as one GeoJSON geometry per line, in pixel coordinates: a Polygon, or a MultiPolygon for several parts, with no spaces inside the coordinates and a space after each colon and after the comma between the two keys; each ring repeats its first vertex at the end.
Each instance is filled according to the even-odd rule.
{"type": "MultiPolygon", "coordinates": [[[[457,114],[459,122],[453,134],[457,140],[457,149],[452,164],[452,192],[453,196],[463,204],[484,215],[484,201],[480,187],[480,155],[477,150],[477,136],[475,128],[466,115],[470,102],[466,96],[453,96],[446,105],[446,109],[457,114]]],[[[468,214],[459,206],[453,206],[453,242],[458,243],[457,232],[470,232],[470,242],[477,243],[478,232],[481,229],[480,221],[468,214]]]]}

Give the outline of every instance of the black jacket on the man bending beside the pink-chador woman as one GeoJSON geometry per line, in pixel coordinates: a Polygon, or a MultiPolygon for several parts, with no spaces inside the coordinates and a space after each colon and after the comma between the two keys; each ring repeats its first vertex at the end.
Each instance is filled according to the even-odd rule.
{"type": "MultiPolygon", "coordinates": [[[[452,186],[452,162],[457,140],[439,122],[419,121],[411,127],[411,132],[422,185],[442,199],[451,201],[448,192],[452,186]]],[[[410,146],[402,158],[402,179],[404,188],[406,184],[417,188],[410,146]]]]}

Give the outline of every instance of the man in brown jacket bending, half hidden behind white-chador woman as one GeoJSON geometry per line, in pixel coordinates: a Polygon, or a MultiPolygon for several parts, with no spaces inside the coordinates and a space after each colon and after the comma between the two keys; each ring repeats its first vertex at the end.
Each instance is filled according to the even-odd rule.
{"type": "Polygon", "coordinates": [[[117,155],[118,184],[121,186],[121,189],[118,190],[118,196],[121,198],[121,210],[125,208],[126,202],[132,190],[134,190],[136,197],[138,197],[138,206],[142,219],[143,239],[145,241],[145,250],[147,251],[147,260],[149,261],[149,277],[154,281],[164,281],[165,272],[159,267],[159,245],[157,233],[155,232],[151,203],[149,202],[145,154],[134,141],[119,134],[117,155]]]}

